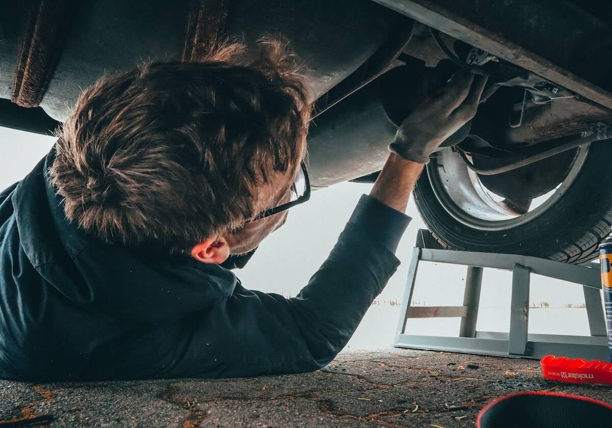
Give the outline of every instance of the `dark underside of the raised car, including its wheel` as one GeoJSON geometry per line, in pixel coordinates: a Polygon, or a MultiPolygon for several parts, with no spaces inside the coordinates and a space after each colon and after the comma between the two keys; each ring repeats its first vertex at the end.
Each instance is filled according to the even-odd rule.
{"type": "Polygon", "coordinates": [[[48,133],[80,88],[220,40],[283,37],[315,114],[312,184],[372,182],[401,120],[457,70],[488,76],[415,199],[446,248],[591,259],[612,224],[612,6],[518,0],[6,2],[0,126],[48,133]]]}

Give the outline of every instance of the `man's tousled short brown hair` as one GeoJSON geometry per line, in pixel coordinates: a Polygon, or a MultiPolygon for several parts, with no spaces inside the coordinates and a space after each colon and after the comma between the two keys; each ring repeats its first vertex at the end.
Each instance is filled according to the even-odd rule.
{"type": "Polygon", "coordinates": [[[51,183],[64,212],[107,243],[188,249],[251,220],[258,188],[297,171],[310,106],[281,43],[240,62],[154,62],[83,91],[59,134],[51,183]]]}

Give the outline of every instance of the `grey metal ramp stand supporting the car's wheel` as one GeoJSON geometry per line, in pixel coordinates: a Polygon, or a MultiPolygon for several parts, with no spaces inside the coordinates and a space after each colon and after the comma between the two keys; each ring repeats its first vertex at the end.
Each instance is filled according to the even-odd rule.
{"type": "Polygon", "coordinates": [[[513,254],[445,250],[439,247],[428,231],[421,229],[417,238],[417,246],[412,253],[401,306],[403,316],[400,316],[398,323],[395,346],[523,358],[542,358],[545,355],[553,354],[606,361],[609,354],[602,300],[599,293],[602,288],[599,264],[591,265],[592,267],[570,265],[513,254]],[[468,267],[463,306],[411,306],[420,261],[468,267]],[[476,331],[483,268],[512,271],[509,333],[476,331]],[[575,282],[583,287],[591,336],[528,334],[529,276],[531,273],[575,282]],[[461,317],[460,337],[420,336],[406,331],[408,319],[434,317],[461,317]]]}

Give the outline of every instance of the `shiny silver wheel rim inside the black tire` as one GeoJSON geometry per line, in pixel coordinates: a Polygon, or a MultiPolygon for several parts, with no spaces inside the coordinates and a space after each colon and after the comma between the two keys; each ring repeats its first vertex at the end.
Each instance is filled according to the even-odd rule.
{"type": "Polygon", "coordinates": [[[455,220],[472,229],[504,231],[547,212],[572,185],[588,152],[589,146],[580,147],[565,179],[547,194],[534,199],[535,204],[523,215],[512,212],[501,201],[502,197],[489,191],[453,150],[436,153],[427,165],[427,175],[438,201],[455,220]]]}

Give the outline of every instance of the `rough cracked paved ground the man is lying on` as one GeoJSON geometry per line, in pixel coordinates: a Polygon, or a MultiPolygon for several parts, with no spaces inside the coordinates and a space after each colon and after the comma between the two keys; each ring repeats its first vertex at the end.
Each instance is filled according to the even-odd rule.
{"type": "Polygon", "coordinates": [[[559,391],[612,403],[612,388],[556,383],[539,362],[404,349],[341,353],[308,374],[248,379],[0,380],[6,427],[473,427],[488,402],[559,391]]]}

